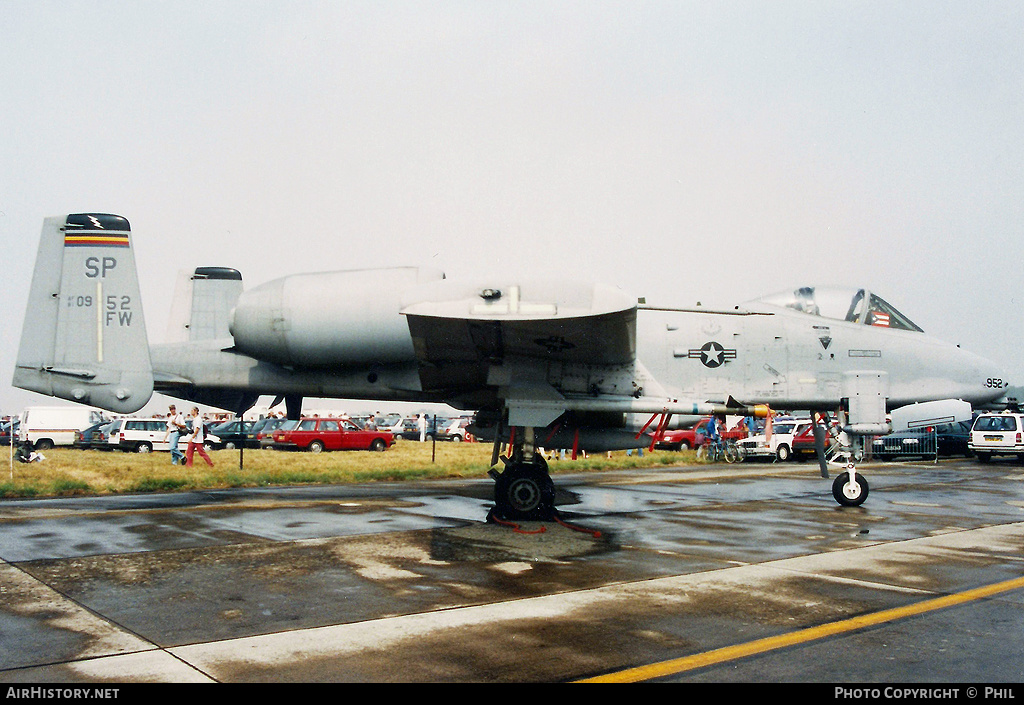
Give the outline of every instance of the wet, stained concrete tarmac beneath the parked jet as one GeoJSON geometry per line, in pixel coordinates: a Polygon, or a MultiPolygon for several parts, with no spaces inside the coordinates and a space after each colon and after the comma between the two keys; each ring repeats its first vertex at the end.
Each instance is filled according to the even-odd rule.
{"type": "MultiPolygon", "coordinates": [[[[564,681],[1024,575],[1024,467],[813,463],[0,502],[0,681],[564,681]]],[[[1024,681],[1024,590],[656,677],[1024,681]]],[[[655,676],[651,676],[655,677],[655,676]]]]}

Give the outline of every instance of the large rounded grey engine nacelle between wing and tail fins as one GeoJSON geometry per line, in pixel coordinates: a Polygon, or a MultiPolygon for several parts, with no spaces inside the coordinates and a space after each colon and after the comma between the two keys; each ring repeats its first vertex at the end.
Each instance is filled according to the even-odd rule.
{"type": "Polygon", "coordinates": [[[279,365],[408,363],[416,356],[402,299],[443,278],[418,267],[285,277],[242,293],[230,333],[239,351],[279,365]]]}

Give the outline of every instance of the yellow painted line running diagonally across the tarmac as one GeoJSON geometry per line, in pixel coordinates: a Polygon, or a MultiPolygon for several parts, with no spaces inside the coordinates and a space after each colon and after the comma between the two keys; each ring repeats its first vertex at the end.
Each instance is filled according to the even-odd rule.
{"type": "Polygon", "coordinates": [[[650,680],[651,678],[660,678],[667,675],[683,673],[695,668],[713,666],[726,661],[734,661],[748,656],[754,656],[755,654],[763,654],[776,649],[785,649],[786,647],[806,644],[807,641],[813,641],[826,636],[835,636],[836,634],[842,634],[856,629],[863,629],[865,627],[892,622],[897,619],[905,619],[907,617],[922,615],[926,612],[933,612],[935,610],[942,610],[948,607],[964,605],[965,603],[970,603],[975,599],[982,599],[984,597],[999,594],[1000,592],[1009,592],[1010,590],[1017,590],[1020,588],[1024,588],[1024,578],[1015,578],[1014,580],[1007,580],[993,585],[985,585],[983,587],[977,587],[973,590],[966,590],[964,592],[956,592],[944,597],[927,599],[915,605],[897,607],[892,610],[883,610],[882,612],[876,612],[870,615],[844,619],[840,622],[829,622],[828,624],[822,624],[809,629],[802,629],[801,631],[795,631],[788,634],[768,636],[763,639],[757,639],[756,641],[737,644],[732,647],[723,647],[722,649],[715,649],[714,651],[705,652],[702,654],[684,656],[683,658],[662,661],[660,663],[652,663],[647,666],[628,668],[614,673],[606,673],[593,678],[585,678],[583,680],[578,680],[577,682],[639,682],[641,680],[650,680]]]}

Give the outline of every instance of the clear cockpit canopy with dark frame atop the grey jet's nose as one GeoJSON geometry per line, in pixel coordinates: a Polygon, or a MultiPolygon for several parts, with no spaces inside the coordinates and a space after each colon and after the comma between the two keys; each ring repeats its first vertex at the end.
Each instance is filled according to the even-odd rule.
{"type": "Polygon", "coordinates": [[[758,301],[825,319],[924,332],[891,303],[867,289],[801,287],[762,296],[758,301]]]}

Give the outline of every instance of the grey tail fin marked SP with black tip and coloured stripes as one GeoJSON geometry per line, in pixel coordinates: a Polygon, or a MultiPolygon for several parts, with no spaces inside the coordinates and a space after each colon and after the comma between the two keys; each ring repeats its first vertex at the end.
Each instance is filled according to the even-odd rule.
{"type": "Polygon", "coordinates": [[[116,413],[153,395],[131,227],[119,215],[43,221],[14,386],[116,413]]]}

